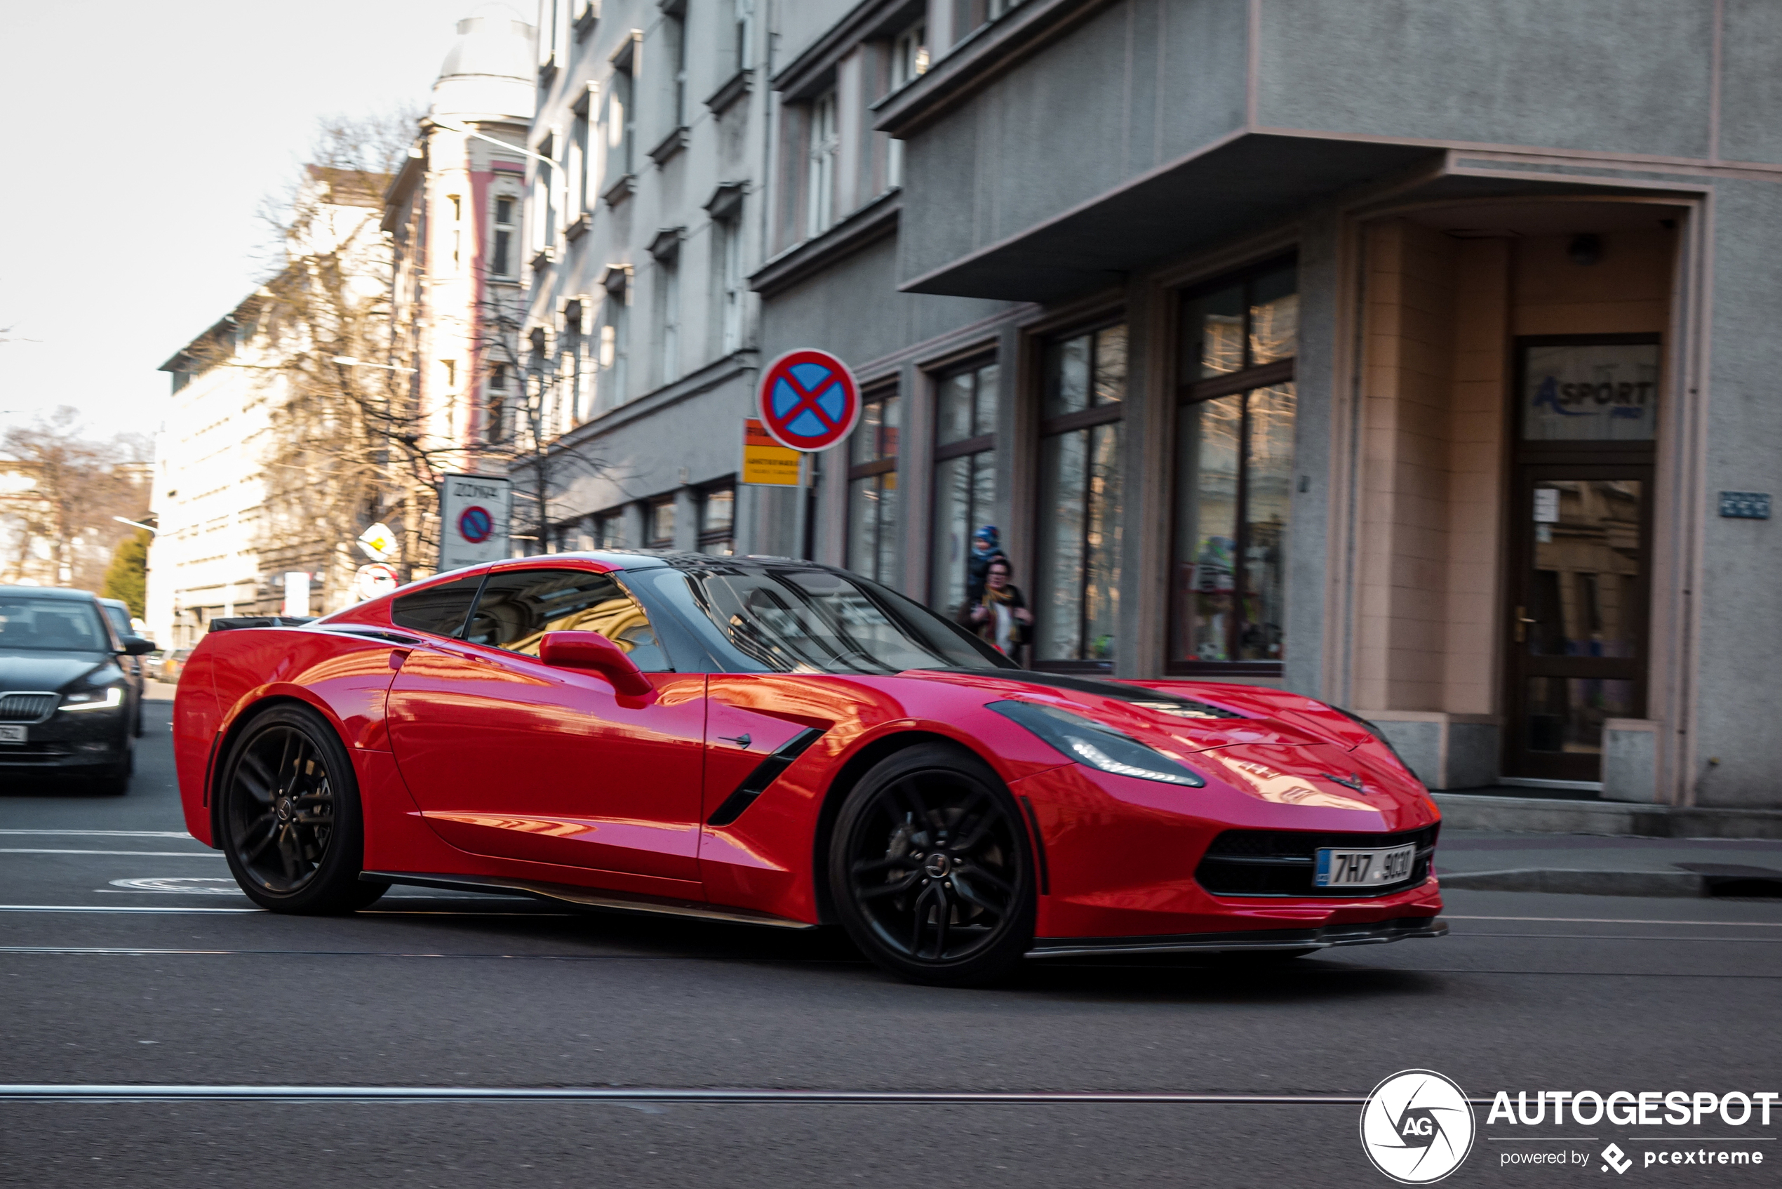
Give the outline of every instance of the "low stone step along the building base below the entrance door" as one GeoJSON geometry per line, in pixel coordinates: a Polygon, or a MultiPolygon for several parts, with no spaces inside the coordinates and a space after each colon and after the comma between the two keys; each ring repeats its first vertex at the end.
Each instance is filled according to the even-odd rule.
{"type": "Polygon", "coordinates": [[[1613,800],[1547,797],[1481,797],[1429,793],[1442,824],[1468,831],[1531,834],[1632,834],[1639,838],[1773,838],[1782,840],[1782,809],[1702,809],[1641,806],[1613,800]]]}

